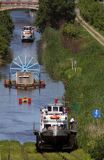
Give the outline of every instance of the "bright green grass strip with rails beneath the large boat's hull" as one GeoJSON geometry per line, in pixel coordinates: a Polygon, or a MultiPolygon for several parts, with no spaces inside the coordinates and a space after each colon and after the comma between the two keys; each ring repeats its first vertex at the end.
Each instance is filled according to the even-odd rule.
{"type": "Polygon", "coordinates": [[[55,153],[44,152],[38,153],[34,143],[28,142],[21,145],[17,141],[0,142],[0,159],[1,160],[91,160],[90,156],[81,149],[76,152],[55,153]]]}

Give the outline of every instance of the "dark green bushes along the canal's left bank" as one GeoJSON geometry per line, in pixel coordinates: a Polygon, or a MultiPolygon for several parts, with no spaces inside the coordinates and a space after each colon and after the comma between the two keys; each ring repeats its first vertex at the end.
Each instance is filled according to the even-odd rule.
{"type": "Polygon", "coordinates": [[[0,12],[0,65],[10,61],[9,43],[12,36],[13,23],[7,11],[0,12]]]}

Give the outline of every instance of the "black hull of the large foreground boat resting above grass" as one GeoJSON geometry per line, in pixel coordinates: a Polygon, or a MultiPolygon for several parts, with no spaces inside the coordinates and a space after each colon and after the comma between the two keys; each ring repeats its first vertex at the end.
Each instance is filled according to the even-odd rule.
{"type": "Polygon", "coordinates": [[[36,146],[39,150],[72,150],[76,143],[76,132],[69,130],[57,131],[54,135],[52,131],[44,131],[36,136],[36,146]]]}

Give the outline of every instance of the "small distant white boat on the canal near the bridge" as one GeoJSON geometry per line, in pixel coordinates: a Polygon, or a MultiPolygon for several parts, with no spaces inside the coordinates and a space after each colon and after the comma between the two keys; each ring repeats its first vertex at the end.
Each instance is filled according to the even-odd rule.
{"type": "Polygon", "coordinates": [[[34,41],[34,29],[32,26],[24,26],[21,32],[21,40],[23,41],[34,41]]]}

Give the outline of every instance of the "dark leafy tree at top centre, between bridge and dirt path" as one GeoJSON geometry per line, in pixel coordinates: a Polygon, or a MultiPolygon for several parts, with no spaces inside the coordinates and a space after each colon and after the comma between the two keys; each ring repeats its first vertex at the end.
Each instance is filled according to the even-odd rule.
{"type": "Polygon", "coordinates": [[[58,28],[63,22],[74,22],[75,4],[70,0],[40,0],[36,25],[41,31],[46,26],[58,28]]]}

